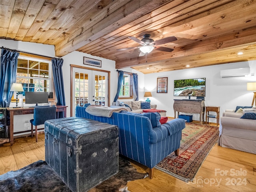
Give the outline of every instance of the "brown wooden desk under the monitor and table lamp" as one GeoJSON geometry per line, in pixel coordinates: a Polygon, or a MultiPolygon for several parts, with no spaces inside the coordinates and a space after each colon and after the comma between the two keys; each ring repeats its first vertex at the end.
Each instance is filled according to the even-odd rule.
{"type": "MultiPolygon", "coordinates": [[[[67,107],[68,106],[62,106],[62,105],[56,105],[56,112],[64,112],[64,117],[66,117],[67,114],[67,107]]],[[[25,115],[25,114],[34,114],[34,108],[29,108],[29,107],[21,107],[21,108],[12,108],[12,107],[7,107],[6,108],[8,111],[10,111],[10,144],[12,145],[14,143],[13,135],[13,116],[14,115],[25,115]]]]}

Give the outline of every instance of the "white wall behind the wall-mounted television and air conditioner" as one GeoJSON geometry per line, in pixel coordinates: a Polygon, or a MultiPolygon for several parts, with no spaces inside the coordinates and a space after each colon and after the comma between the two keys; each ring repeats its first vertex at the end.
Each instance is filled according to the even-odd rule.
{"type": "MultiPolygon", "coordinates": [[[[152,91],[151,102],[157,104],[158,109],[166,110],[166,115],[174,117],[174,99],[185,99],[174,95],[174,80],[188,78],[206,78],[206,106],[220,106],[220,116],[226,109],[235,109],[236,106],[250,106],[253,92],[247,91],[247,82],[256,81],[256,60],[188,68],[170,72],[160,72],[145,75],[145,89],[152,91]],[[250,67],[254,76],[220,78],[220,70],[250,67]],[[159,77],[168,77],[168,93],[156,93],[156,80],[159,77]]],[[[188,98],[186,98],[188,99],[188,98]]],[[[191,97],[191,99],[194,99],[191,97]]],[[[199,120],[199,114],[193,114],[193,120],[199,120]]],[[[211,120],[212,122],[214,119],[211,120]]]]}

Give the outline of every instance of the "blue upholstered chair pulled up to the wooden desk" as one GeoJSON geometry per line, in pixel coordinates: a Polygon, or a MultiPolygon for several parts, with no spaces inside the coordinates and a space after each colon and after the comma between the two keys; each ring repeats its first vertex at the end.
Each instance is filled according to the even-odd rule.
{"type": "Polygon", "coordinates": [[[44,124],[48,119],[56,119],[56,107],[36,107],[34,108],[34,119],[31,123],[31,137],[33,137],[33,125],[35,128],[36,142],[37,142],[37,126],[44,124]]]}

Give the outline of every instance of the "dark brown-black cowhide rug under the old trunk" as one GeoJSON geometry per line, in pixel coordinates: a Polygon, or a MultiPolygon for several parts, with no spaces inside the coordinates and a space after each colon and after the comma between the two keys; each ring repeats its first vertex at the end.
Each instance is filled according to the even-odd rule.
{"type": "MultiPolygon", "coordinates": [[[[127,182],[143,179],[146,173],[136,171],[130,162],[119,157],[117,174],[89,192],[128,192],[127,182]]],[[[20,170],[0,175],[0,192],[71,192],[45,161],[39,160],[20,170]]]]}

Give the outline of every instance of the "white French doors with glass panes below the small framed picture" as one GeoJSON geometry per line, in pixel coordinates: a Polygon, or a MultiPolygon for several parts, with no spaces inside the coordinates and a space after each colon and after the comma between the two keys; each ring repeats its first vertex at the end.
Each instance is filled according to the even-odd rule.
{"type": "Polygon", "coordinates": [[[73,114],[76,106],[90,103],[108,106],[108,73],[73,68],[73,114]]]}

